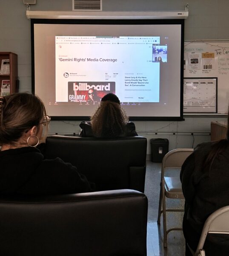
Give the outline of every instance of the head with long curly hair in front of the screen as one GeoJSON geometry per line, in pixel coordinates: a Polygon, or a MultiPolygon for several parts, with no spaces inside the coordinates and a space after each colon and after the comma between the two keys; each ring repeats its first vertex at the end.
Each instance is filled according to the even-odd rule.
{"type": "Polygon", "coordinates": [[[118,97],[108,93],[101,99],[91,121],[95,137],[119,137],[124,133],[125,124],[129,120],[118,97]]]}

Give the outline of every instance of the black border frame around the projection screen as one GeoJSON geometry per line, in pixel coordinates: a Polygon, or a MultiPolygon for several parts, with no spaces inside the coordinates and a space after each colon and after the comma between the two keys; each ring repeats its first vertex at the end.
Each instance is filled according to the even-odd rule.
{"type": "MultiPolygon", "coordinates": [[[[178,24],[181,25],[181,49],[180,49],[180,116],[129,116],[133,121],[160,120],[160,121],[183,121],[183,58],[184,58],[184,19],[31,19],[31,89],[35,93],[35,70],[34,70],[34,24],[178,24]]],[[[51,116],[52,120],[89,120],[90,116],[51,116]]]]}

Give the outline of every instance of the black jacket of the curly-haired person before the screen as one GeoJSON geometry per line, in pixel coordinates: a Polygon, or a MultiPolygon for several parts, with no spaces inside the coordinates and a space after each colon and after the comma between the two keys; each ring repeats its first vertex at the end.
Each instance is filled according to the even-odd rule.
{"type": "MultiPolygon", "coordinates": [[[[81,122],[80,128],[82,129],[82,131],[80,131],[80,134],[79,134],[80,137],[94,137],[92,133],[91,122],[81,122]]],[[[135,124],[133,122],[126,123],[124,134],[122,134],[120,137],[129,137],[129,136],[137,136],[137,132],[135,131],[135,124]]]]}

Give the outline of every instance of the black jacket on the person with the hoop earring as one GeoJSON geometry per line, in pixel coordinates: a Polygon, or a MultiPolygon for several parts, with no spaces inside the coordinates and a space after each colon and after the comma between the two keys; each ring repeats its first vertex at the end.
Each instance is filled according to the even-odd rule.
{"type": "Polygon", "coordinates": [[[91,192],[76,167],[60,158],[44,160],[38,148],[0,151],[0,194],[60,195],[91,192]]]}

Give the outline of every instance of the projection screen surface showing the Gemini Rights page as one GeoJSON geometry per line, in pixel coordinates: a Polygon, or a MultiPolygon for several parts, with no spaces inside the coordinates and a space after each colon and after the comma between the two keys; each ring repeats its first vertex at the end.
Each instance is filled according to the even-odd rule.
{"type": "Polygon", "coordinates": [[[181,24],[34,23],[34,93],[63,119],[91,116],[109,92],[133,119],[180,118],[181,31],[181,24]]]}

